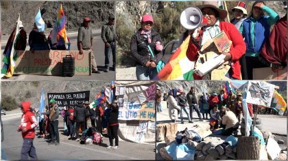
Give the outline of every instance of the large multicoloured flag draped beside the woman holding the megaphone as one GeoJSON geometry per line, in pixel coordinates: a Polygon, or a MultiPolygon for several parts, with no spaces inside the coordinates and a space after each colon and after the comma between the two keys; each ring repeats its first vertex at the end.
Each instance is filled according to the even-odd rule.
{"type": "Polygon", "coordinates": [[[190,61],[186,53],[189,41],[190,35],[171,55],[169,62],[160,70],[154,80],[193,80],[195,61],[190,61]]]}

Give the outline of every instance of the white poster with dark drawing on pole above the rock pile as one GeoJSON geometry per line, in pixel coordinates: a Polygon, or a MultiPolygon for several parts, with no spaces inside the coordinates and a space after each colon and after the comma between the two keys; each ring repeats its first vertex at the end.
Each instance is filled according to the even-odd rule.
{"type": "Polygon", "coordinates": [[[269,107],[273,98],[274,85],[263,81],[249,81],[246,102],[269,107]]]}

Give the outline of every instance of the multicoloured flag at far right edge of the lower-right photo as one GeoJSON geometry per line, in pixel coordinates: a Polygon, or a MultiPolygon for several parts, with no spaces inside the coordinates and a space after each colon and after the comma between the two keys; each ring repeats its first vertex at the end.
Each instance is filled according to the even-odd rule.
{"type": "Polygon", "coordinates": [[[287,108],[287,103],[275,89],[270,106],[271,108],[274,108],[280,115],[283,115],[287,108]]]}

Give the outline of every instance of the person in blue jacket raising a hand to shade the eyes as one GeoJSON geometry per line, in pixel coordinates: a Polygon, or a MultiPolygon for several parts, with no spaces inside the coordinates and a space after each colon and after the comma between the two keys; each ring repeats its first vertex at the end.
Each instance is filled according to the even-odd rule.
{"type": "Polygon", "coordinates": [[[253,79],[253,69],[270,66],[270,63],[263,59],[261,49],[269,38],[270,27],[278,20],[279,16],[274,10],[268,8],[263,1],[255,1],[250,16],[243,21],[239,29],[245,38],[245,59],[249,80],[253,79]],[[264,12],[268,15],[266,16],[264,12]]]}

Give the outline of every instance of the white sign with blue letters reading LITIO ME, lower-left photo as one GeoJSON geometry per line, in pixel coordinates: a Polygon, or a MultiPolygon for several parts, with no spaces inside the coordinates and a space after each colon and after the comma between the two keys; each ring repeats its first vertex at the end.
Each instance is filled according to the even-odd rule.
{"type": "Polygon", "coordinates": [[[155,101],[148,101],[145,104],[124,102],[123,107],[119,108],[118,119],[155,121],[155,101]]]}

